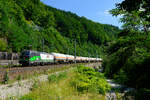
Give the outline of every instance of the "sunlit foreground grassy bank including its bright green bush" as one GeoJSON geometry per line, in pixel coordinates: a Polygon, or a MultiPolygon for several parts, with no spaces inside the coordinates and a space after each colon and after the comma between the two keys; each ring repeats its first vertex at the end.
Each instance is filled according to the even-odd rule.
{"type": "Polygon", "coordinates": [[[31,92],[19,100],[105,100],[103,94],[109,86],[102,75],[97,75],[94,69],[83,66],[69,72],[50,74],[49,81],[36,81],[31,92]],[[83,76],[91,81],[85,81],[87,77],[82,79],[83,76]],[[98,85],[99,82],[101,84],[98,85]]]}

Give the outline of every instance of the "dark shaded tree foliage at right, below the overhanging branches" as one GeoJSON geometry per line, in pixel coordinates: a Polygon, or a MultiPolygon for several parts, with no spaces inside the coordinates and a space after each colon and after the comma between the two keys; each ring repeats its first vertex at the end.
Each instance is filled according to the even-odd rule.
{"type": "Polygon", "coordinates": [[[105,74],[122,84],[135,88],[150,88],[148,77],[150,52],[149,35],[124,31],[108,48],[105,74]],[[125,32],[125,33],[124,33],[125,32]]]}

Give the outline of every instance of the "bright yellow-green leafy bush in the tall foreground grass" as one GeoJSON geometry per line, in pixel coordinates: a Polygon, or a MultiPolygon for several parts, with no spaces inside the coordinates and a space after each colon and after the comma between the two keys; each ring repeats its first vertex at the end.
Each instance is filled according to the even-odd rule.
{"type": "Polygon", "coordinates": [[[105,94],[110,90],[103,74],[96,72],[93,68],[78,66],[77,75],[71,81],[71,85],[77,88],[79,92],[98,92],[105,94]]]}

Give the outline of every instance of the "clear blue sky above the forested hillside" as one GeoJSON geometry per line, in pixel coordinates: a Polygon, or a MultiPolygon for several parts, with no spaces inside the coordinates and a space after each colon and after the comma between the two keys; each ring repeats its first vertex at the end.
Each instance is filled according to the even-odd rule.
{"type": "Polygon", "coordinates": [[[121,27],[119,18],[113,17],[108,13],[115,8],[116,3],[123,0],[41,0],[44,4],[50,5],[65,11],[70,11],[78,16],[84,16],[87,19],[102,24],[111,24],[121,27]]]}

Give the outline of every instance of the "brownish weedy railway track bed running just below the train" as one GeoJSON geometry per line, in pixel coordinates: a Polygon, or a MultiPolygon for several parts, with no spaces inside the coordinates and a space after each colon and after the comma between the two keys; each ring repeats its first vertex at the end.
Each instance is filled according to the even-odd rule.
{"type": "MultiPolygon", "coordinates": [[[[82,63],[91,67],[100,66],[101,63],[82,63]]],[[[5,80],[6,74],[9,80],[16,79],[18,76],[22,78],[26,76],[32,76],[35,73],[46,72],[48,69],[57,69],[65,66],[74,66],[76,64],[52,64],[46,66],[30,66],[30,67],[12,67],[12,68],[0,68],[0,82],[5,80]]]]}

